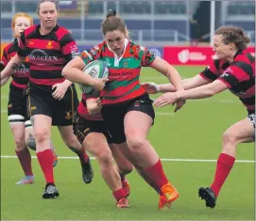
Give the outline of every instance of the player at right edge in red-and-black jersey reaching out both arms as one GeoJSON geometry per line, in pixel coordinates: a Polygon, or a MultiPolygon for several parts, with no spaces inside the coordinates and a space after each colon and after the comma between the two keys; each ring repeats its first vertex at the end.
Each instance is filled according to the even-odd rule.
{"type": "MultiPolygon", "coordinates": [[[[212,185],[199,189],[199,197],[205,199],[206,206],[211,208],[215,206],[221,187],[235,162],[237,145],[253,142],[255,138],[255,57],[245,52],[250,40],[242,28],[235,26],[218,28],[213,40],[213,50],[217,56],[213,64],[195,77],[184,80],[186,90],[165,93],[155,101],[156,106],[164,106],[179,100],[209,98],[230,89],[246,106],[247,118],[230,126],[223,134],[222,152],[217,160],[212,185]]],[[[163,85],[159,90],[175,91],[175,87],[163,85]]],[[[154,92],[152,87],[151,92],[154,92]]]]}

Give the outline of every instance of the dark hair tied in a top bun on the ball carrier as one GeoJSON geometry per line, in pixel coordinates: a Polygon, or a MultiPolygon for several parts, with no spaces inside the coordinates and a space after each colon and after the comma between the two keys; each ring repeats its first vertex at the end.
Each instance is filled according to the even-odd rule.
{"type": "Polygon", "coordinates": [[[114,9],[110,9],[106,15],[106,19],[101,24],[101,31],[103,35],[106,35],[108,31],[120,30],[121,32],[127,34],[128,28],[125,21],[116,16],[116,11],[114,9]]]}

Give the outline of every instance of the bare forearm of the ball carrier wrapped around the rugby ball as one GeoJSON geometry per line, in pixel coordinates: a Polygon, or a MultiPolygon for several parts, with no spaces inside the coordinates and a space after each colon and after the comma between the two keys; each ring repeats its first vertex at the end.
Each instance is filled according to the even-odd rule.
{"type": "Polygon", "coordinates": [[[63,69],[62,76],[74,83],[80,83],[90,86],[94,84],[94,78],[91,77],[91,75],[85,74],[83,71],[80,71],[77,68],[63,69]]]}

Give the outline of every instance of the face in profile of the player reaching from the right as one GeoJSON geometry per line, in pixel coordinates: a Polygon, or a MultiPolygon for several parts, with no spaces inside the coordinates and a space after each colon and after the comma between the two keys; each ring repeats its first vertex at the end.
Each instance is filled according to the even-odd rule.
{"type": "Polygon", "coordinates": [[[213,51],[218,59],[229,59],[234,55],[234,47],[232,43],[225,44],[222,35],[215,35],[213,38],[213,51]]]}

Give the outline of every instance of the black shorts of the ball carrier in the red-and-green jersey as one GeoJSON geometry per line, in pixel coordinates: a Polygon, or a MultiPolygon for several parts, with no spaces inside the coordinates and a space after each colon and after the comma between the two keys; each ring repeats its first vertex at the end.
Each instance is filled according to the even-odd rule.
{"type": "Polygon", "coordinates": [[[140,111],[155,119],[153,101],[148,94],[123,103],[103,105],[101,114],[106,122],[107,128],[115,144],[124,143],[127,138],[125,134],[124,118],[129,111],[140,111]]]}

